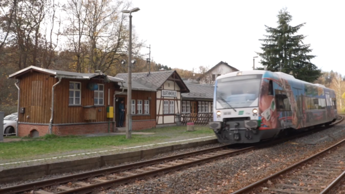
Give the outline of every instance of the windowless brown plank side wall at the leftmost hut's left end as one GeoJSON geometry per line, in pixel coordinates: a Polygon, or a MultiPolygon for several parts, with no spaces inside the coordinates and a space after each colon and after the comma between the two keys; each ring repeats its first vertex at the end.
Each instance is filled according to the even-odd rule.
{"type": "Polygon", "coordinates": [[[20,107],[25,113],[19,113],[19,122],[49,123],[51,107],[51,89],[57,79],[38,72],[28,73],[20,79],[20,107]]]}

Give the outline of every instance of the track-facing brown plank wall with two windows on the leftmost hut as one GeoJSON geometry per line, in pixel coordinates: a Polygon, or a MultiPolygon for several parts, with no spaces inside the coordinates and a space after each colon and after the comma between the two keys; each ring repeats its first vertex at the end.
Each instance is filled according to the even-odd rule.
{"type": "MultiPolygon", "coordinates": [[[[68,80],[62,79],[61,83],[56,86],[55,90],[55,110],[54,124],[62,123],[84,123],[84,106],[94,105],[94,91],[87,88],[89,80],[68,80]],[[81,106],[69,106],[69,82],[81,83],[81,106]]],[[[108,104],[108,88],[110,87],[110,106],[113,106],[113,95],[115,83],[102,83],[102,81],[93,80],[94,83],[104,84],[104,106],[97,106],[96,121],[105,122],[106,107],[108,104]]],[[[112,121],[112,119],[111,119],[112,121]]]]}

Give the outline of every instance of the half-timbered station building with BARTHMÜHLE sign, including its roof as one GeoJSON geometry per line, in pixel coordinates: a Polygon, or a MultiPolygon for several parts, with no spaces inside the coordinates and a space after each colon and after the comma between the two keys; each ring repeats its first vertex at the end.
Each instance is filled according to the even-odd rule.
{"type": "MultiPolygon", "coordinates": [[[[116,77],[127,81],[128,74],[117,74],[116,77]]],[[[123,85],[121,88],[127,90],[127,83],[123,85]]],[[[147,99],[140,95],[132,95],[133,129],[135,129],[135,126],[142,126],[144,123],[145,128],[176,125],[176,119],[181,113],[181,94],[189,92],[186,84],[174,70],[132,73],[132,89],[134,91],[151,92],[148,102],[150,103],[150,109],[154,111],[147,116],[138,114],[141,101],[147,99]]]]}

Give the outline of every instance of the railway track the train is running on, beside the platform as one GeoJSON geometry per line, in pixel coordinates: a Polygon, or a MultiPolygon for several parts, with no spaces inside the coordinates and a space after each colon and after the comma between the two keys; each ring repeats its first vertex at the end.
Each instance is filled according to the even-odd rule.
{"type": "MultiPolygon", "coordinates": [[[[337,120],[332,125],[341,122],[343,119],[344,117],[342,117],[340,120],[337,120]]],[[[109,167],[24,185],[17,185],[14,187],[0,189],[0,194],[18,194],[31,191],[34,191],[35,194],[92,193],[95,189],[107,189],[134,180],[147,179],[149,177],[166,174],[179,169],[205,164],[214,160],[239,155],[254,149],[295,139],[326,128],[328,127],[320,127],[317,130],[315,129],[300,133],[289,138],[252,144],[251,146],[241,145],[242,147],[236,147],[238,145],[224,145],[128,165],[109,167]],[[243,146],[245,147],[243,148],[243,146]]]]}

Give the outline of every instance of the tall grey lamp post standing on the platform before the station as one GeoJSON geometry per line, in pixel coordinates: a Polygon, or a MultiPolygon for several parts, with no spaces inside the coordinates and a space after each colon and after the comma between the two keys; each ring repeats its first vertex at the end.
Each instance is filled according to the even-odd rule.
{"type": "Polygon", "coordinates": [[[138,7],[132,10],[122,10],[122,13],[129,13],[130,18],[130,34],[129,34],[129,47],[128,47],[128,87],[127,87],[127,116],[126,116],[126,139],[131,139],[132,133],[132,12],[137,12],[138,7]]]}

